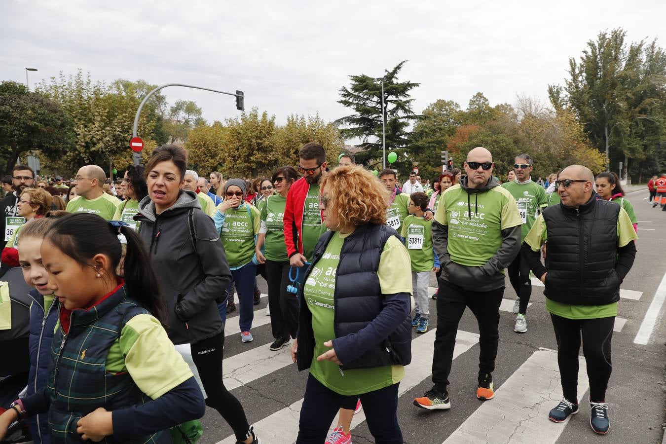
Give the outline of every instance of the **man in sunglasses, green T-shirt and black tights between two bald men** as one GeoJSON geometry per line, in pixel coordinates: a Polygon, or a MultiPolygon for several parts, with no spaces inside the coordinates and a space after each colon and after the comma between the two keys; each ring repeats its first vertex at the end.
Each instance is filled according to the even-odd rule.
{"type": "MultiPolygon", "coordinates": [[[[548,206],[548,202],[543,186],[533,182],[529,175],[534,168],[531,156],[529,154],[518,154],[515,156],[514,162],[513,171],[515,172],[515,179],[502,184],[502,186],[509,190],[518,205],[518,212],[523,223],[521,227],[521,240],[525,240],[525,236],[527,236],[529,229],[534,224],[537,211],[548,206]]],[[[511,265],[509,265],[508,272],[509,282],[511,282],[511,286],[517,296],[515,304],[513,304],[513,313],[516,314],[513,331],[516,333],[525,333],[527,332],[525,314],[527,314],[527,305],[532,294],[529,266],[527,266],[525,260],[521,259],[520,255],[517,255],[513,262],[511,262],[511,265]]]]}

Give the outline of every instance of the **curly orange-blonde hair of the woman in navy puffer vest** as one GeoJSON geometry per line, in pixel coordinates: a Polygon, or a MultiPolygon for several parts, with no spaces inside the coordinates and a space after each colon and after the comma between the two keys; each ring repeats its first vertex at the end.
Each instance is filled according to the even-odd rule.
{"type": "Polygon", "coordinates": [[[362,166],[338,166],[322,178],[328,192],[328,210],[338,216],[340,226],[386,224],[388,190],[362,166]]]}

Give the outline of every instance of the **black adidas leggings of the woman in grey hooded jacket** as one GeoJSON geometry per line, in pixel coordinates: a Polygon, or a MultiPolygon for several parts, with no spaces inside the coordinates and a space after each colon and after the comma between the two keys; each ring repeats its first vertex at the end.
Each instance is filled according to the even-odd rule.
{"type": "Polygon", "coordinates": [[[237,441],[244,441],[251,436],[250,425],[245,417],[243,406],[238,399],[224,387],[222,382],[222,352],[224,332],[203,339],[190,345],[192,360],[206,390],[206,405],[222,415],[234,430],[237,441]]]}

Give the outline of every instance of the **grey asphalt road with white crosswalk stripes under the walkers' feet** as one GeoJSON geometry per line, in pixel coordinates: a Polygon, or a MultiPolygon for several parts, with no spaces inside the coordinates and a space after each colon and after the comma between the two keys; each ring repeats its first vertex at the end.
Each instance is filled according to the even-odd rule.
{"type": "MultiPolygon", "coordinates": [[[[476,399],[478,326],[466,312],[460,322],[456,358],[451,375],[449,411],[424,411],[412,405],[414,397],[430,388],[434,329],[414,333],[412,364],[400,384],[398,417],[406,443],[661,443],[665,422],[666,385],[666,212],[647,204],[647,190],[628,198],[640,221],[638,255],[623,282],[623,298],[613,335],[613,375],[607,392],[611,430],[595,435],[589,427],[587,377],[581,356],[579,399],[581,412],[568,423],[547,419],[549,409],[561,398],[555,337],[544,309],[543,287],[534,286],[533,303],[527,311],[528,331],[513,332],[511,313],[515,293],[507,280],[500,320],[500,349],[493,375],[496,397],[482,403],[476,399]],[[661,285],[661,286],[660,286],[661,285]],[[659,291],[657,290],[659,288],[659,291]]],[[[431,286],[436,281],[431,279],[431,286]]],[[[265,292],[265,282],[260,282],[265,292]]],[[[225,384],[244,405],[263,443],[292,443],[298,431],[298,412],[306,372],[291,363],[288,348],[274,352],[269,317],[264,316],[266,298],[255,307],[252,343],[241,343],[237,313],[227,321],[224,350],[225,384]]],[[[430,302],[434,324],[435,301],[430,302]]],[[[435,326],[431,326],[434,328],[435,326]]],[[[352,427],[354,443],[372,443],[362,413],[352,427]]],[[[203,419],[201,444],[233,443],[232,431],[216,411],[203,419]]]]}

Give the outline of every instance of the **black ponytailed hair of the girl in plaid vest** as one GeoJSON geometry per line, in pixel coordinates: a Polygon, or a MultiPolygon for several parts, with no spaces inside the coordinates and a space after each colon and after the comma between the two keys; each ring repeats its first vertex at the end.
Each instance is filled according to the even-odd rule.
{"type": "MultiPolygon", "coordinates": [[[[123,266],[125,276],[122,276],[125,278],[127,293],[164,324],[166,306],[153,262],[132,228],[123,226],[120,232],[127,239],[127,254],[123,266]]],[[[117,276],[116,270],[123,257],[118,234],[117,227],[97,214],[75,213],[58,218],[45,239],[83,267],[91,267],[91,260],[95,255],[104,254],[111,260],[113,276],[110,277],[116,280],[121,277],[117,276]]]]}

